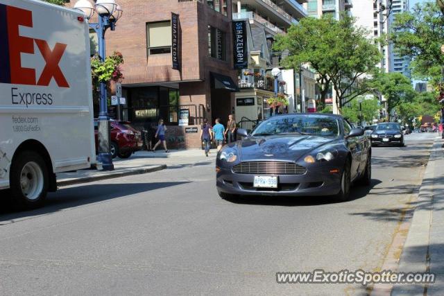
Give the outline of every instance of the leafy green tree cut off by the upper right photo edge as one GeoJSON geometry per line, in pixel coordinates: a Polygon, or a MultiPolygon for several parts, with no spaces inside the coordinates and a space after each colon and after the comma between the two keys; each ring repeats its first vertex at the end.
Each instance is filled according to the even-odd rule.
{"type": "Polygon", "coordinates": [[[444,44],[443,12],[436,3],[416,4],[412,11],[395,15],[395,28],[389,35],[389,41],[395,45],[400,55],[409,55],[412,74],[416,78],[431,79],[434,85],[441,80],[441,67],[444,55],[441,45],[444,44]]]}

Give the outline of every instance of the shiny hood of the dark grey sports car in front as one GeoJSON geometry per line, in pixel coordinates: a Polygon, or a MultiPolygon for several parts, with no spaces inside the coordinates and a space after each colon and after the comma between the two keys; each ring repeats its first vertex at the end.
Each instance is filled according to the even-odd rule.
{"type": "Polygon", "coordinates": [[[248,159],[296,160],[311,150],[319,148],[337,138],[304,135],[248,137],[237,142],[242,161],[248,159]]]}

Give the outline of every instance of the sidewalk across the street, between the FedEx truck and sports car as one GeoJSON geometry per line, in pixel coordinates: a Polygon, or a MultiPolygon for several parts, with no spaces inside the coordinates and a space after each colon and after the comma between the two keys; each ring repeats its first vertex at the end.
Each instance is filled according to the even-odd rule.
{"type": "Polygon", "coordinates": [[[114,171],[99,171],[94,169],[80,170],[72,173],[58,173],[58,186],[68,186],[112,179],[127,175],[138,175],[163,170],[167,167],[194,165],[197,162],[213,161],[216,150],[210,151],[210,157],[205,157],[203,150],[157,150],[155,153],[138,151],[128,159],[113,159],[114,171]]]}

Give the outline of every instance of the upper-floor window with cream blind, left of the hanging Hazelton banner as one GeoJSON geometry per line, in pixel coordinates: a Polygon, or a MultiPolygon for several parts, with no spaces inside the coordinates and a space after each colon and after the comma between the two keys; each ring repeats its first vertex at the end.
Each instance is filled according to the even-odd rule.
{"type": "Polygon", "coordinates": [[[146,23],[148,55],[171,53],[171,21],[146,23]]]}

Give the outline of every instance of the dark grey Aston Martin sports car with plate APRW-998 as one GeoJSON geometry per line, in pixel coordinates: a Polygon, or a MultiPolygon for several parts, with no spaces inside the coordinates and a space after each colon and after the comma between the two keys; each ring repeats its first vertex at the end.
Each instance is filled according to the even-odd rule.
{"type": "Polygon", "coordinates": [[[232,195],[336,195],[348,200],[350,185],[370,184],[371,148],[361,128],[342,116],[285,114],[257,125],[216,159],[216,186],[232,195]]]}

